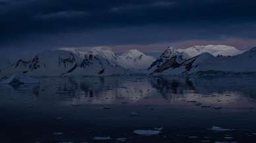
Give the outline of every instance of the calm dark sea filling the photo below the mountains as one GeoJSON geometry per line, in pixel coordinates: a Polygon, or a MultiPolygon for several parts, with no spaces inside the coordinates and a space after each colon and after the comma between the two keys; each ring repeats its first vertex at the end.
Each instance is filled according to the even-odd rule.
{"type": "Polygon", "coordinates": [[[40,80],[0,85],[1,143],[256,142],[256,78],[250,76],[40,80]],[[209,130],[214,126],[224,130],[209,130]]]}

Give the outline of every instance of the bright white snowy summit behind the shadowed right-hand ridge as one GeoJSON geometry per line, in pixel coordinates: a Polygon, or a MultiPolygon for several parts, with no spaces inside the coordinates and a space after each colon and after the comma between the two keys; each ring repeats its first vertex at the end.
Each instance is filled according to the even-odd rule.
{"type": "Polygon", "coordinates": [[[229,45],[195,45],[186,49],[177,49],[177,51],[179,53],[186,53],[189,57],[195,57],[201,53],[210,53],[214,56],[233,56],[243,53],[243,51],[229,45]]]}

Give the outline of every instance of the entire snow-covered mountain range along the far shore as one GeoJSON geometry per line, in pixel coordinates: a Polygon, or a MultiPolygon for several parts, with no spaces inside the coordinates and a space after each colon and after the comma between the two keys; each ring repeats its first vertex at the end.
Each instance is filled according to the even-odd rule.
{"type": "Polygon", "coordinates": [[[1,69],[1,76],[25,73],[30,76],[101,76],[112,74],[191,74],[207,71],[256,72],[256,47],[240,51],[228,45],[196,45],[187,49],[168,47],[155,59],[136,49],[121,55],[111,49],[79,51],[63,48],[18,59],[1,69]]]}

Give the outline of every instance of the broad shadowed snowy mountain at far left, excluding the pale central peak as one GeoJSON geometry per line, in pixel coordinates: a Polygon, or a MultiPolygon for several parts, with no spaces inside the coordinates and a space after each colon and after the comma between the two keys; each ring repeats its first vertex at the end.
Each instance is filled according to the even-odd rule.
{"type": "Polygon", "coordinates": [[[127,70],[92,52],[56,50],[40,53],[30,61],[19,59],[11,67],[0,71],[2,76],[16,73],[32,76],[95,76],[126,74],[127,70]]]}

